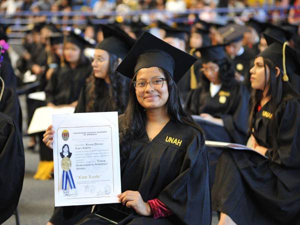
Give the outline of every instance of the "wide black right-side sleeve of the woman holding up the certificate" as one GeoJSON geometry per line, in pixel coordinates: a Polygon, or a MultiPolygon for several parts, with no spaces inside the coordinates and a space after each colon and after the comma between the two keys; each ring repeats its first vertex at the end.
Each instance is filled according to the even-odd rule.
{"type": "Polygon", "coordinates": [[[184,224],[211,224],[209,165],[203,136],[189,142],[179,175],[158,195],[184,224]]]}

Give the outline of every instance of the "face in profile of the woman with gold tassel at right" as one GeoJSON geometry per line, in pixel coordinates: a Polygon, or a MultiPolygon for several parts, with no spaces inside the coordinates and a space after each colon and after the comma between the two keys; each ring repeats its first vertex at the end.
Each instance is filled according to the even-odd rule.
{"type": "MultiPolygon", "coordinates": [[[[266,80],[265,80],[265,68],[263,58],[261,56],[255,58],[254,66],[250,69],[250,82],[253,89],[263,90],[265,82],[269,80],[269,69],[266,66],[266,80]]],[[[267,87],[267,86],[266,86],[267,87]]]]}

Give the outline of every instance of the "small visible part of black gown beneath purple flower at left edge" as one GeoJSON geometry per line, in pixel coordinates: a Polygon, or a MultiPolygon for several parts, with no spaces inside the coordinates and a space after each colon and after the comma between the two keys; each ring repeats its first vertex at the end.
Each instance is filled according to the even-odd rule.
{"type": "Polygon", "coordinates": [[[0,101],[0,111],[13,119],[18,129],[22,130],[22,112],[17,94],[12,88],[4,87],[0,101]]]}

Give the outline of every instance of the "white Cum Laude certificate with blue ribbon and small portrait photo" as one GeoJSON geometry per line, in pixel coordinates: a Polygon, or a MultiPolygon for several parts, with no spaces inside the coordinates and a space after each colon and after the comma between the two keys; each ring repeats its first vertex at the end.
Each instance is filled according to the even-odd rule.
{"type": "Polygon", "coordinates": [[[55,206],[118,202],[117,112],[52,116],[55,206]]]}

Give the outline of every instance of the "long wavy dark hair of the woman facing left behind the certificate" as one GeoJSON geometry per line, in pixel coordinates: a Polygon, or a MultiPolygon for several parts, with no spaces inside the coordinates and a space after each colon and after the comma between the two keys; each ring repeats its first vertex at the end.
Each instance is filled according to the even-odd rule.
{"type": "MultiPolygon", "coordinates": [[[[112,110],[122,113],[128,101],[128,85],[129,79],[122,76],[120,73],[115,71],[118,65],[118,58],[116,55],[109,54],[109,65],[108,65],[108,76],[110,80],[110,85],[108,88],[110,108],[112,110]]],[[[97,96],[101,95],[103,91],[107,91],[105,88],[105,81],[101,78],[96,78],[91,74],[86,82],[91,85],[88,92],[88,100],[86,104],[86,112],[95,111],[97,104],[97,96]]]]}

